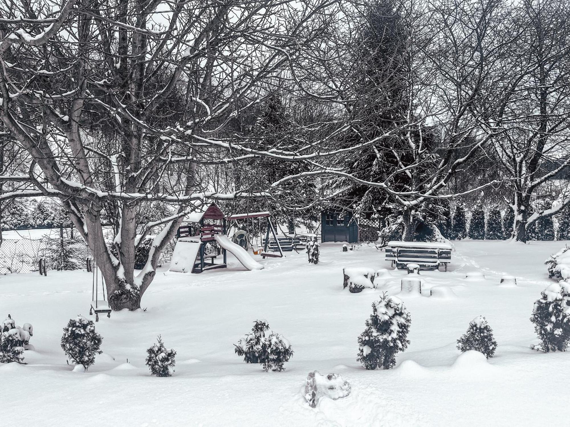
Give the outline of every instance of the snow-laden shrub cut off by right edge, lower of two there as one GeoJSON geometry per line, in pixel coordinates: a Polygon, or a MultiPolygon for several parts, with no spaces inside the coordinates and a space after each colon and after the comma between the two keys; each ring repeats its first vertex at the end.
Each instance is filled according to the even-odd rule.
{"type": "Polygon", "coordinates": [[[565,351],[570,342],[570,284],[558,282],[540,293],[531,322],[544,352],[565,351]]]}

